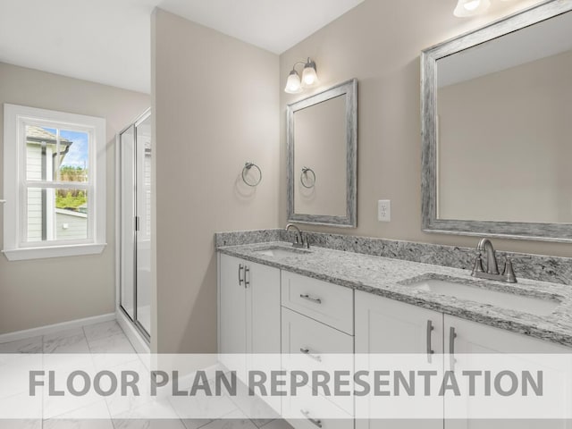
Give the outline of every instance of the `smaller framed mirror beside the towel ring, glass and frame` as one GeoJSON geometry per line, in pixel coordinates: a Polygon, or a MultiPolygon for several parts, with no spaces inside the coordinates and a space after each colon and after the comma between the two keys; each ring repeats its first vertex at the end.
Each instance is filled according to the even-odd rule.
{"type": "Polygon", "coordinates": [[[357,226],[357,80],[287,108],[288,221],[357,226]]]}

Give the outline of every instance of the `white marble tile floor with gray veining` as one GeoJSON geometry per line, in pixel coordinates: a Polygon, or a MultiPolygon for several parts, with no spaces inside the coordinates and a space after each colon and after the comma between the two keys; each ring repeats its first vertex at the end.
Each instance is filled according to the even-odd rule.
{"type": "MultiPolygon", "coordinates": [[[[0,354],[42,352],[46,354],[122,353],[132,355],[132,360],[124,362],[123,365],[142,365],[127,336],[122,332],[121,326],[115,321],[92,324],[20,341],[0,343],[0,354]]],[[[102,361],[101,365],[105,366],[105,361],[102,361]]],[[[0,399],[0,403],[3,401],[10,402],[10,400],[13,398],[0,399]]],[[[167,420],[122,419],[122,414],[118,413],[117,409],[121,409],[123,405],[106,400],[86,403],[81,408],[89,408],[90,416],[100,416],[98,419],[86,420],[74,418],[74,415],[81,413],[81,408],[74,410],[50,409],[49,400],[45,400],[42,408],[43,419],[0,420],[0,429],[291,429],[287,422],[280,419],[248,419],[239,408],[234,407],[221,410],[223,412],[221,418],[214,420],[179,418],[178,404],[169,401],[164,401],[161,407],[163,410],[164,408],[172,410],[173,418],[167,420]],[[117,408],[118,406],[120,408],[117,408]]],[[[144,406],[148,407],[149,404],[144,406]]],[[[130,417],[133,417],[132,411],[130,417]]]]}

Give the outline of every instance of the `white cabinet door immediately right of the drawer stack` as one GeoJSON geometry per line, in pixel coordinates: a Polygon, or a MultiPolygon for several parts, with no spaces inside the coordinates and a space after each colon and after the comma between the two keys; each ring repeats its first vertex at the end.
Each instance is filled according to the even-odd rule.
{"type": "MultiPolygon", "coordinates": [[[[412,353],[414,367],[405,365],[403,370],[424,369],[442,373],[442,314],[421,307],[384,299],[366,292],[356,292],[356,368],[370,371],[378,369],[374,354],[412,353]],[[427,335],[427,327],[433,327],[427,335]],[[430,346],[435,356],[427,354],[430,346]]],[[[400,355],[402,356],[402,355],[400,355]]],[[[400,397],[401,398],[401,397],[400,397]]],[[[357,429],[442,429],[442,400],[432,397],[424,406],[433,419],[364,419],[376,416],[376,412],[391,409],[390,397],[367,395],[356,398],[357,429]],[[387,404],[387,405],[386,405],[387,404]]],[[[408,416],[415,414],[416,400],[412,406],[406,402],[395,403],[400,409],[408,409],[408,416]]],[[[396,408],[393,408],[396,409],[396,408]]],[[[418,409],[418,408],[417,408],[418,409]]],[[[404,413],[400,413],[403,415],[404,413]]],[[[424,413],[426,416],[427,414],[424,413]]]]}

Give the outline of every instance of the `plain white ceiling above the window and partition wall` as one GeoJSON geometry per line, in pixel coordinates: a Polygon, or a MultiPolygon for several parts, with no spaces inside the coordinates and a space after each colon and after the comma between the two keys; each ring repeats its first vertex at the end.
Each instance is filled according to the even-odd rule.
{"type": "Polygon", "coordinates": [[[149,93],[158,6],[282,54],[364,0],[0,0],[0,62],[149,93]]]}

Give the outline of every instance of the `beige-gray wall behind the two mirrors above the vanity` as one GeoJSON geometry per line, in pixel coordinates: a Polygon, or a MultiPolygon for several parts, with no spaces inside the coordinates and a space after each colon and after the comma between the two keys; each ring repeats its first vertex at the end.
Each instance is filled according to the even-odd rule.
{"type": "MultiPolygon", "coordinates": [[[[386,239],[475,246],[476,239],[421,231],[421,124],[419,54],[422,49],[482,27],[536,1],[492,2],[491,11],[472,19],[452,14],[455,1],[366,0],[280,57],[281,88],[292,64],[312,57],[320,88],[358,80],[357,229],[311,227],[386,239]],[[391,223],[377,222],[377,200],[391,199],[391,223]]],[[[286,105],[309,93],[281,93],[281,208],[286,222],[286,105]]],[[[310,228],[310,227],[307,227],[310,228]]],[[[497,248],[572,257],[562,243],[495,240],[497,248]]]]}

